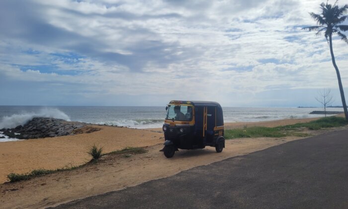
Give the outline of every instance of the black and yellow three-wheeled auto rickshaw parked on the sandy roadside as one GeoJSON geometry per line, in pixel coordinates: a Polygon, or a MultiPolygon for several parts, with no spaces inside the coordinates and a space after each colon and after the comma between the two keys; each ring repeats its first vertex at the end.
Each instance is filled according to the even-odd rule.
{"type": "Polygon", "coordinates": [[[173,157],[178,149],[225,147],[224,118],[220,104],[202,101],[171,101],[163,124],[164,154],[173,157]]]}

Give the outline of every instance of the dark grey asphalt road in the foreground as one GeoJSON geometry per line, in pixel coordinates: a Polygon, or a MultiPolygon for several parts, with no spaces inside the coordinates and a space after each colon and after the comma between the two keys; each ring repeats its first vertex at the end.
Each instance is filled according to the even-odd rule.
{"type": "Polygon", "coordinates": [[[288,142],[58,208],[348,208],[348,130],[288,142]]]}

